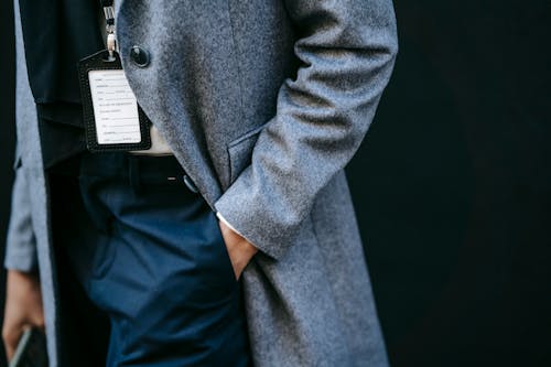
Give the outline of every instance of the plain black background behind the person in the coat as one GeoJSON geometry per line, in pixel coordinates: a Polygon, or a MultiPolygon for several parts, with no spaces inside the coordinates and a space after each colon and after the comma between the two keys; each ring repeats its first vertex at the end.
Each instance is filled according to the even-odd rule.
{"type": "MultiPolygon", "coordinates": [[[[0,7],[3,238],[14,61],[0,7]]],[[[396,72],[347,170],[391,363],[551,366],[551,3],[396,10],[396,72]]]]}

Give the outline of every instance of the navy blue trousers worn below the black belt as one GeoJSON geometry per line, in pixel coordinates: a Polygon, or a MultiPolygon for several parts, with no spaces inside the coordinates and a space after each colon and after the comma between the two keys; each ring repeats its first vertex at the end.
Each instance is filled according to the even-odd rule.
{"type": "Polygon", "coordinates": [[[66,213],[74,273],[110,321],[107,366],[250,366],[218,220],[172,156],[84,154],[66,213]]]}

